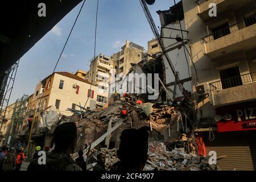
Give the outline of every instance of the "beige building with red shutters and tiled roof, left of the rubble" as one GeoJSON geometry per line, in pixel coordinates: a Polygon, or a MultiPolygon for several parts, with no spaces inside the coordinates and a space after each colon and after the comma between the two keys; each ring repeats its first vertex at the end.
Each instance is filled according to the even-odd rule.
{"type": "MultiPolygon", "coordinates": [[[[34,153],[36,146],[44,147],[52,144],[52,131],[42,126],[42,111],[50,106],[55,106],[60,117],[71,116],[73,112],[67,109],[80,110],[77,105],[85,106],[86,109],[94,109],[96,107],[97,95],[97,86],[91,86],[90,82],[77,76],[77,74],[55,72],[39,82],[36,85],[32,100],[28,100],[27,116],[34,113],[35,109],[35,123],[32,128],[30,154],[34,153]],[[87,100],[88,102],[86,103],[87,100]]],[[[28,128],[26,118],[19,130],[19,137],[22,142],[27,142],[28,128]]]]}

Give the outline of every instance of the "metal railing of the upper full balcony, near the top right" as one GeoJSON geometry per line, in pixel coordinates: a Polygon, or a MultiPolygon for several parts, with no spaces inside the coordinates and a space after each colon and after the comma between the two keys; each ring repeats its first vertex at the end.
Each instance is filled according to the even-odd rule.
{"type": "Polygon", "coordinates": [[[221,28],[220,30],[214,31],[212,34],[205,36],[204,38],[202,38],[201,43],[203,44],[203,43],[212,42],[213,40],[232,34],[233,32],[241,30],[242,28],[245,28],[245,27],[249,27],[255,23],[256,23],[256,14],[253,14],[243,19],[241,22],[233,24],[232,26],[229,26],[229,27],[227,26],[227,27],[221,28]]]}

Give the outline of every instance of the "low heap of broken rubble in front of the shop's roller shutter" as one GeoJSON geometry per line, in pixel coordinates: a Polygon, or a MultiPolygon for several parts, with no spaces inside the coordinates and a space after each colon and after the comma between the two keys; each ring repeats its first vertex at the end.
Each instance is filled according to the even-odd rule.
{"type": "Polygon", "coordinates": [[[162,171],[214,171],[217,165],[209,165],[208,158],[186,154],[184,148],[167,151],[162,142],[151,142],[148,147],[147,171],[155,168],[162,171]]]}

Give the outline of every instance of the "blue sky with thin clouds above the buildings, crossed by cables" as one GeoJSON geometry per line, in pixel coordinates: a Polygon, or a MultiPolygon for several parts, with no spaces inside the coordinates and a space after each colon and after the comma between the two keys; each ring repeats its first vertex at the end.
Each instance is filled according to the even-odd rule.
{"type": "MultiPolygon", "coordinates": [[[[173,0],[156,0],[149,6],[156,26],[160,27],[156,11],[167,10],[173,4],[173,0]]],[[[96,0],[86,0],[56,71],[88,71],[94,50],[96,6],[96,0]]],[[[34,93],[36,84],[52,73],[80,7],[81,3],[20,59],[9,104],[23,94],[34,93]]],[[[110,56],[118,52],[126,39],[147,49],[147,42],[153,37],[139,0],[100,0],[97,54],[110,56]]]]}

